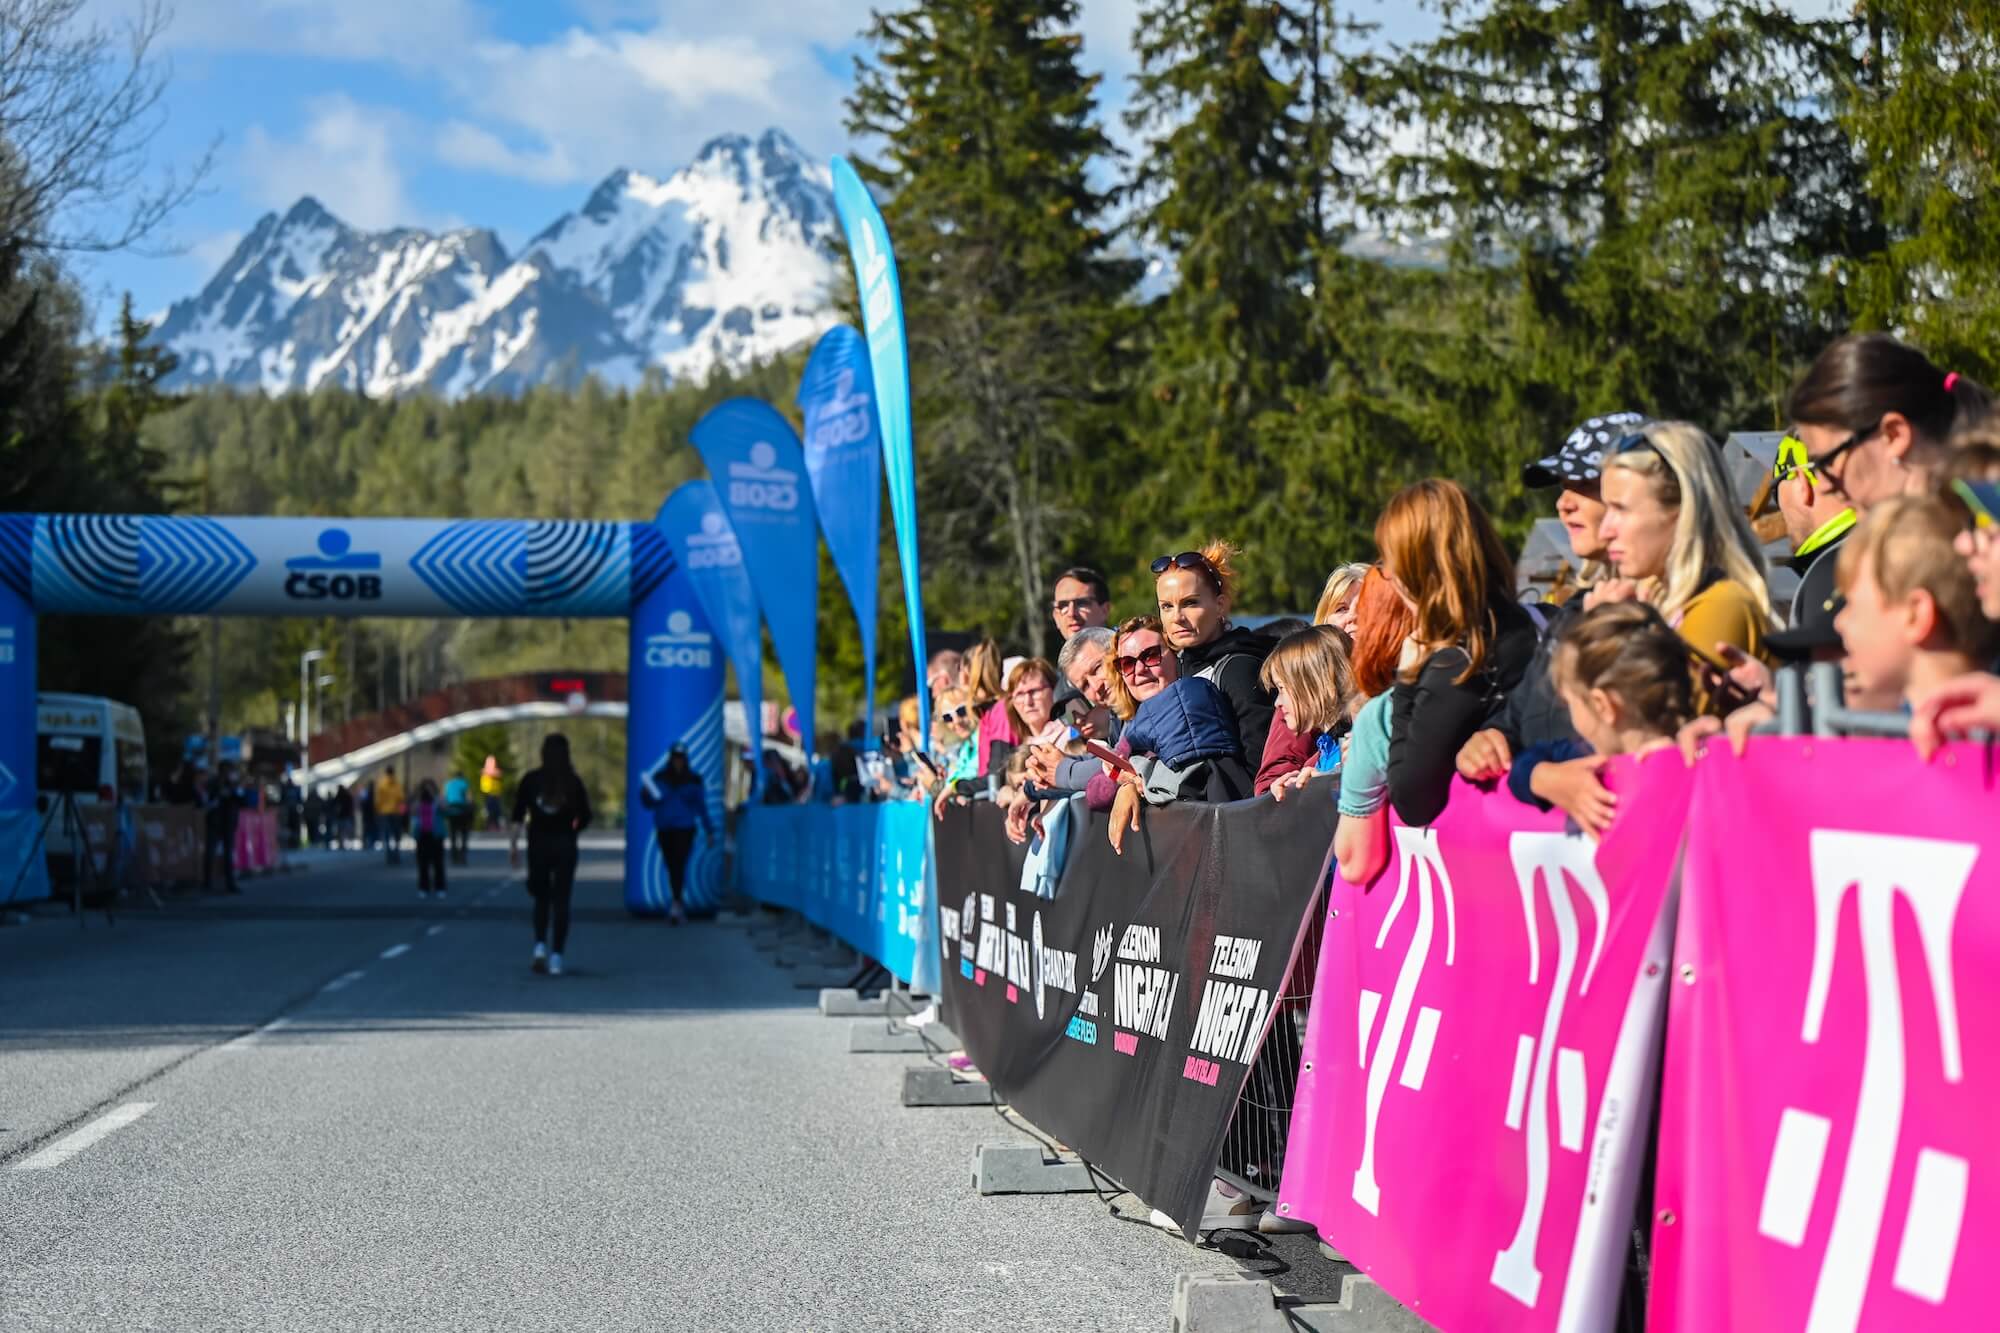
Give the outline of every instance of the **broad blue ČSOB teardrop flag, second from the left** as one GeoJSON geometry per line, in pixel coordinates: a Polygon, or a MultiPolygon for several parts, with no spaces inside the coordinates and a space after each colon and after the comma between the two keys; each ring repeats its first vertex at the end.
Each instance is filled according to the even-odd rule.
{"type": "Polygon", "coordinates": [[[820,542],[806,454],[792,422],[756,398],[730,398],[694,422],[694,448],[708,464],[722,512],[742,542],[750,584],[764,606],[798,735],[814,749],[812,689],[820,638],[820,542]]]}

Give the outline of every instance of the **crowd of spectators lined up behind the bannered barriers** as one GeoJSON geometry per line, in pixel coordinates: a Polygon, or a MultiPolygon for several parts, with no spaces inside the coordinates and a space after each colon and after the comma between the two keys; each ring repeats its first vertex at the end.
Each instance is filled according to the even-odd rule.
{"type": "Polygon", "coordinates": [[[992,638],[938,652],[928,751],[912,697],[878,753],[856,729],[824,781],[766,799],[994,801],[1028,841],[1082,793],[1122,845],[1168,801],[1322,791],[1358,881],[1386,859],[1388,811],[1434,821],[1458,775],[1600,837],[1618,817],[1600,781],[1614,755],[1680,745],[1692,761],[1712,735],[1740,749],[1774,723],[1790,664],[1838,662],[1842,699],[1810,703],[1902,715],[1926,755],[2000,733],[1988,392],[1888,334],[1856,334],[1814,360],[1788,418],[1766,486],[1798,588],[1784,604],[1752,528],[1764,496],[1738,494],[1716,438],[1606,412],[1524,468],[1572,552],[1548,596],[1522,600],[1494,522],[1446,478],[1388,500],[1374,558],[1328,574],[1310,624],[1238,622],[1228,540],[1156,556],[1152,598],[1128,616],[1102,572],[1066,568],[1054,660],[992,638]]]}

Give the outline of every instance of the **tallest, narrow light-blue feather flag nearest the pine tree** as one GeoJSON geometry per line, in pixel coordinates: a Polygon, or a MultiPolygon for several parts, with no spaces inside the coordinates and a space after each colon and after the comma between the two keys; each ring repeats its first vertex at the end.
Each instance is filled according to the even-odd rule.
{"type": "Polygon", "coordinates": [[[874,378],[876,418],[882,422],[882,462],[888,468],[888,504],[896,516],[896,558],[902,562],[902,602],[910,614],[910,652],[916,656],[918,721],[930,747],[930,691],[922,689],[930,652],[924,648],[924,582],[916,562],[916,440],[910,434],[910,344],[902,332],[902,284],[888,224],[868,186],[846,158],[834,158],[834,212],[848,234],[854,290],[862,294],[862,328],[868,332],[868,368],[874,378]]]}

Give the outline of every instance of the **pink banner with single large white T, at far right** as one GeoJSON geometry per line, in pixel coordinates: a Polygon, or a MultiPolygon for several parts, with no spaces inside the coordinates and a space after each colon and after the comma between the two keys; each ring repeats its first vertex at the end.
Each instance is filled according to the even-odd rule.
{"type": "Polygon", "coordinates": [[[1774,739],[1698,779],[1650,1327],[1994,1327],[1988,757],[1774,739]]]}

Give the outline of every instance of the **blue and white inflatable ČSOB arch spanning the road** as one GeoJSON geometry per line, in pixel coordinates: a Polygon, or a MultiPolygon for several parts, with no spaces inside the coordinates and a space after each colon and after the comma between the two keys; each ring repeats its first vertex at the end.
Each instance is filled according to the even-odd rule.
{"type": "MultiPolygon", "coordinates": [[[[722,654],[650,522],[0,514],[0,891],[20,881],[22,899],[48,893],[38,614],[628,616],[626,791],[686,745],[722,827],[722,654]]],[[[720,895],[722,849],[702,839],[686,899],[720,895]]],[[[626,801],[626,907],[668,901],[652,823],[626,801]]]]}

